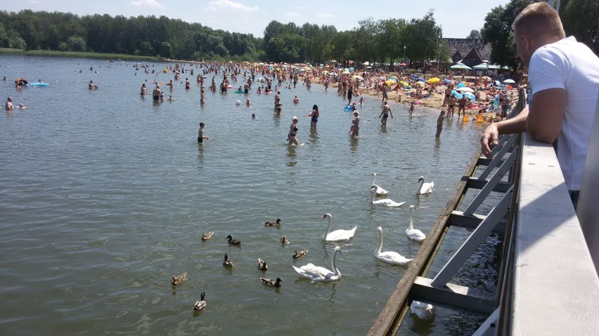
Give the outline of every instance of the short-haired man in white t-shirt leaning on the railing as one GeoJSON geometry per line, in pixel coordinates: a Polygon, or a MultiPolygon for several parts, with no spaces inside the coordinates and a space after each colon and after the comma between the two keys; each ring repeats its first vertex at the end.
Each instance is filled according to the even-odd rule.
{"type": "Polygon", "coordinates": [[[574,208],[582,181],[595,105],[599,95],[599,58],[574,37],[565,37],[558,12],[546,2],[524,8],[512,25],[517,54],[529,68],[528,109],[493,123],[481,137],[482,152],[499,134],[526,130],[541,142],[556,142],[556,154],[574,208]]]}

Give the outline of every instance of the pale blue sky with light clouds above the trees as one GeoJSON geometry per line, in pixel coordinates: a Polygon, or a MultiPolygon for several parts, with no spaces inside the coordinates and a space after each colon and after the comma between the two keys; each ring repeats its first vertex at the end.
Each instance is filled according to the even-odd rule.
{"type": "Polygon", "coordinates": [[[473,29],[484,25],[492,8],[508,4],[509,0],[478,1],[387,1],[378,0],[0,0],[0,10],[70,12],[77,15],[109,14],[112,16],[165,15],[185,22],[198,22],[212,29],[264,36],[264,28],[272,20],[303,25],[334,25],[337,31],[351,30],[359,21],[372,17],[423,18],[434,9],[434,19],[443,29],[443,37],[465,38],[473,29]]]}

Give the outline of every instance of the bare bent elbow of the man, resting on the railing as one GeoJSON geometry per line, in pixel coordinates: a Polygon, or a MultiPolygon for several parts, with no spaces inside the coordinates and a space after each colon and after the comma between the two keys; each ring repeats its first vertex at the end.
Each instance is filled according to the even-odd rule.
{"type": "Polygon", "coordinates": [[[526,131],[535,140],[553,143],[562,131],[566,109],[566,90],[548,88],[534,94],[526,121],[526,131]]]}

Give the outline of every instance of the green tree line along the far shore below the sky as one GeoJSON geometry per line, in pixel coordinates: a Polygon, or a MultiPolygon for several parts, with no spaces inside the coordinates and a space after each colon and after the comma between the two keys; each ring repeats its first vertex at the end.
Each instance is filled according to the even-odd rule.
{"type": "MultiPolygon", "coordinates": [[[[534,0],[512,0],[492,8],[484,27],[468,37],[491,43],[491,62],[515,65],[511,24],[520,11],[534,0]]],[[[562,0],[560,15],[568,35],[598,53],[599,1],[562,0]]],[[[165,16],[84,15],[46,11],[0,11],[0,48],[23,50],[124,53],[188,60],[247,60],[264,62],[313,62],[354,60],[393,65],[449,60],[449,47],[442,28],[430,10],[423,18],[411,20],[366,18],[354,29],[338,32],[333,25],[276,20],[264,29],[264,38],[252,34],[225,32],[200,23],[188,23],[165,16]],[[404,57],[405,55],[405,57],[404,57]]],[[[346,63],[349,65],[349,63],[346,63]]]]}

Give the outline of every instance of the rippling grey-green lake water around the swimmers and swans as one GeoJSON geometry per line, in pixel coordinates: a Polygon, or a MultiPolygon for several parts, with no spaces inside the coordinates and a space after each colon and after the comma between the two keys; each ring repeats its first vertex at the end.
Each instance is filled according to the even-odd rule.
{"type": "MultiPolygon", "coordinates": [[[[395,104],[394,119],[381,128],[380,102],[365,97],[360,138],[350,140],[352,115],[335,90],[308,91],[301,83],[283,89],[281,116],[273,113],[273,95],[257,95],[255,86],[250,107],[236,106],[245,95],[234,89],[207,90],[200,105],[193,67],[195,75],[181,75],[191,90],[176,83],[166,90],[174,102],[155,103],[140,97],[141,83],[150,93],[155,76],[167,82],[172,73],[146,75],[132,65],[0,56],[0,75],[8,77],[0,82],[2,99],[29,106],[0,114],[6,335],[364,335],[406,271],[375,260],[376,228],[383,228],[383,250],[413,257],[420,245],[405,234],[408,206],[420,207],[415,226],[427,233],[482,130],[455,117],[435,140],[437,111],[417,108],[408,117],[407,107],[395,104]],[[20,76],[53,85],[17,92],[20,76]],[[90,80],[100,88],[88,90],[90,80]],[[314,104],[321,117],[311,133],[314,104]],[[299,147],[285,142],[294,115],[299,147]],[[200,121],[210,137],[203,145],[196,141],[200,121]],[[373,172],[404,206],[369,203],[373,172]],[[420,175],[434,180],[433,194],[415,195],[420,175]],[[323,243],[324,213],[333,215],[333,229],[357,225],[353,240],[323,243]],[[262,224],[276,218],[279,228],[262,224]],[[202,242],[205,231],[214,238],[202,242]],[[228,234],[242,246],[228,246],[228,234]],[[279,243],[283,235],[288,246],[279,243]],[[335,246],[342,248],[340,281],[311,283],[292,269],[330,267],[335,246]],[[300,249],[309,253],[293,260],[300,249]],[[232,270],[221,264],[225,253],[232,270]],[[269,264],[266,273],[256,267],[259,257],[269,264]],[[172,286],[182,271],[188,281],[172,286]],[[261,276],[281,277],[283,286],[266,288],[261,276]],[[193,304],[202,291],[207,311],[198,314],[193,304]]],[[[448,235],[433,273],[466,235],[448,235]]],[[[482,264],[494,260],[493,251],[492,244],[482,250],[482,264]]],[[[465,272],[476,278],[478,269],[465,272]]],[[[433,321],[416,320],[408,317],[400,334],[460,335],[480,323],[447,309],[433,321]]]]}

